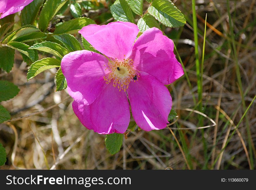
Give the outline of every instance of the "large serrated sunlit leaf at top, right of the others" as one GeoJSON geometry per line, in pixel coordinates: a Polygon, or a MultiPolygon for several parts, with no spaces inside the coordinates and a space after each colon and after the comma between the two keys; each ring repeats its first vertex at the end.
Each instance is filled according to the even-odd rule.
{"type": "Polygon", "coordinates": [[[184,26],[186,23],[184,15],[169,0],[154,0],[147,11],[159,22],[168,27],[175,28],[184,26]]]}

